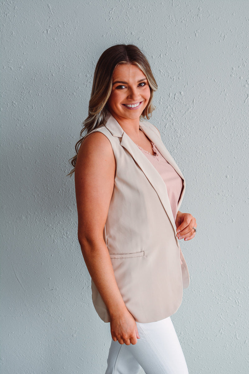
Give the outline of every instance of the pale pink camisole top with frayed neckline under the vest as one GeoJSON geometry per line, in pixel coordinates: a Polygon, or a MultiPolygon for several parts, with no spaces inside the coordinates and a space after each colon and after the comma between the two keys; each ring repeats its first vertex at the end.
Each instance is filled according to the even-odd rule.
{"type": "Polygon", "coordinates": [[[156,148],[155,144],[152,143],[152,149],[154,155],[150,154],[139,145],[137,147],[143,152],[144,156],[152,163],[155,169],[159,172],[164,183],[166,184],[169,202],[171,205],[174,220],[177,215],[177,205],[181,196],[181,191],[183,190],[183,180],[180,175],[175,171],[173,166],[171,166],[168,161],[161,155],[159,150],[156,148]]]}

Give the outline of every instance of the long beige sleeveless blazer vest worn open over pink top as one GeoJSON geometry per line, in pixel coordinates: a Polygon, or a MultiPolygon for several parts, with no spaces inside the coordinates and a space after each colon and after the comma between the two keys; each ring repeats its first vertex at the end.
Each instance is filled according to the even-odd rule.
{"type": "MultiPolygon", "coordinates": [[[[140,128],[183,178],[179,209],[185,191],[184,177],[158,130],[149,122],[140,122],[140,128]]],[[[109,139],[116,159],[104,239],[118,288],[137,322],[159,321],[176,312],[183,288],[189,285],[165,183],[111,114],[104,125],[93,131],[102,132],[109,139]]],[[[108,311],[93,282],[92,299],[100,318],[109,322],[108,311]]]]}

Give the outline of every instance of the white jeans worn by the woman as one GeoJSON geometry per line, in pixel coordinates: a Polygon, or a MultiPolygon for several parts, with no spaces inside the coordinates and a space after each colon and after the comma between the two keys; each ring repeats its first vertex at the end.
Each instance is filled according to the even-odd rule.
{"type": "Polygon", "coordinates": [[[137,344],[113,341],[107,359],[106,374],[188,374],[187,364],[171,318],[141,324],[137,344]]]}

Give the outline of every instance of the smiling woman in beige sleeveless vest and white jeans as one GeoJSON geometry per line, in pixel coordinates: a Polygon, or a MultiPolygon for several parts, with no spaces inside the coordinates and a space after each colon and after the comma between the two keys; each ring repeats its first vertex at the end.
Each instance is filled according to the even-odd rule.
{"type": "Polygon", "coordinates": [[[134,45],[100,56],[75,172],[78,239],[94,307],[110,322],[110,373],[188,373],[170,315],[189,285],[178,240],[196,220],[181,213],[184,177],[149,122],[157,85],[134,45]]]}

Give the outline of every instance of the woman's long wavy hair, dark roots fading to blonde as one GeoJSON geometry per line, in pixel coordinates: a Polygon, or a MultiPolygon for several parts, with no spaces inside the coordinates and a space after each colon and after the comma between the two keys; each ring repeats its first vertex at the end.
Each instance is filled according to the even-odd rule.
{"type": "Polygon", "coordinates": [[[94,77],[93,88],[88,107],[88,117],[83,122],[83,129],[80,132],[80,140],[75,144],[76,155],[69,160],[73,169],[68,174],[70,177],[74,173],[78,150],[84,140],[83,133],[86,134],[98,128],[105,122],[108,109],[107,101],[112,91],[112,74],[115,67],[119,64],[136,65],[147,78],[150,87],[150,99],[146,108],[144,108],[141,118],[149,119],[155,107],[152,104],[153,93],[158,86],[152,74],[149,62],[140,51],[140,49],[132,44],[118,44],[109,47],[102,53],[97,62],[94,77]]]}

